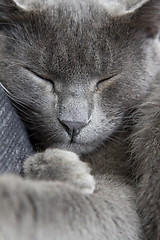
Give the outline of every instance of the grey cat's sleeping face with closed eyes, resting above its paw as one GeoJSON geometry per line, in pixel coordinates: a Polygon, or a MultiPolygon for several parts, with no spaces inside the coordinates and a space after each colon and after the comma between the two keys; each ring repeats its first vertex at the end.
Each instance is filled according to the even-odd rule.
{"type": "Polygon", "coordinates": [[[159,68],[157,29],[93,1],[36,9],[12,11],[2,27],[0,78],[36,145],[87,153],[146,94],[159,68]]]}

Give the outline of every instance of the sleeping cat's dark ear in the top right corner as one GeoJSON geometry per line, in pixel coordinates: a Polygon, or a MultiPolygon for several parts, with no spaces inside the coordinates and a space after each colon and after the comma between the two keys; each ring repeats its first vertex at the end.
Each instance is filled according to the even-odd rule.
{"type": "Polygon", "coordinates": [[[160,0],[148,0],[134,10],[131,24],[148,37],[155,37],[160,32],[160,0]]]}

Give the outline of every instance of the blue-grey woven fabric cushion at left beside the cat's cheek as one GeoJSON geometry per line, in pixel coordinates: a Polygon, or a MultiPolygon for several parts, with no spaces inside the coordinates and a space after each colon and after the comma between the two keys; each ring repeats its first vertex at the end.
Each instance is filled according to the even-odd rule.
{"type": "Polygon", "coordinates": [[[23,123],[0,85],[0,172],[20,173],[32,153],[23,123]]]}

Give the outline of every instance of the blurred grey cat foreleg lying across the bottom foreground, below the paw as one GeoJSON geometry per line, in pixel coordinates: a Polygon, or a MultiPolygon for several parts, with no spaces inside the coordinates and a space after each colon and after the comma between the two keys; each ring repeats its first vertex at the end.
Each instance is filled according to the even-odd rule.
{"type": "Polygon", "coordinates": [[[1,240],[138,240],[130,187],[97,179],[91,195],[60,181],[0,177],[1,240]]]}

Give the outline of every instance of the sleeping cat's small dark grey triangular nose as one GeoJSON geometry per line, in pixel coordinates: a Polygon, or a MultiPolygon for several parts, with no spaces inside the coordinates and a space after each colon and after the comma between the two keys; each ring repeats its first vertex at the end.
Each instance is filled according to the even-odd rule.
{"type": "Polygon", "coordinates": [[[73,140],[74,136],[78,135],[82,128],[84,128],[87,123],[86,122],[71,122],[71,121],[63,121],[60,120],[63,127],[66,129],[68,135],[73,140]]]}

